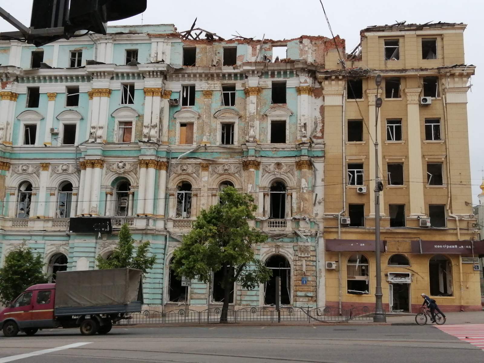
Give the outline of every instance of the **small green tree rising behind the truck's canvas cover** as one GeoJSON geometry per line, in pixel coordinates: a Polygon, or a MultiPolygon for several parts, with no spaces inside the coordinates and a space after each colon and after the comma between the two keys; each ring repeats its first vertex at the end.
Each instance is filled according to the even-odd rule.
{"type": "Polygon", "coordinates": [[[97,267],[101,270],[129,267],[146,273],[156,262],[156,256],[148,256],[150,241],[141,242],[136,248],[135,240],[127,223],[123,224],[118,235],[119,241],[109,259],[96,257],[97,267]],[[136,254],[134,253],[136,249],[136,254]]]}

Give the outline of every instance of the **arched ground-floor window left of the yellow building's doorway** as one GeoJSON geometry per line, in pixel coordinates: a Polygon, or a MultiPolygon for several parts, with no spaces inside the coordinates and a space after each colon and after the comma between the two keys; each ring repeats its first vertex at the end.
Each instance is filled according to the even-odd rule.
{"type": "Polygon", "coordinates": [[[361,253],[355,253],[348,258],[346,264],[346,283],[348,294],[367,295],[370,293],[368,258],[361,253]]]}

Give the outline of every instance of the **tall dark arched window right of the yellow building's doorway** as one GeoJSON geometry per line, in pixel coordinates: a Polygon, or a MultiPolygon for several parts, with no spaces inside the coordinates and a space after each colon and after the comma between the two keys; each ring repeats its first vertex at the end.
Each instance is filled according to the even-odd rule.
{"type": "Polygon", "coordinates": [[[453,296],[452,262],[443,255],[430,258],[428,266],[430,295],[453,296]]]}

